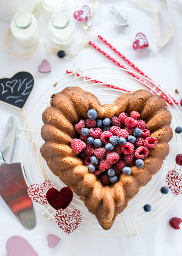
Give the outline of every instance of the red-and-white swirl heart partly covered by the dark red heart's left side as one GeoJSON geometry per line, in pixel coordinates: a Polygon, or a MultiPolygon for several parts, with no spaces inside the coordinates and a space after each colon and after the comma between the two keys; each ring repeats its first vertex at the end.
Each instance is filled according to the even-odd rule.
{"type": "Polygon", "coordinates": [[[54,188],[54,184],[49,180],[45,180],[41,185],[31,184],[28,187],[28,195],[35,202],[46,206],[48,204],[46,194],[47,191],[52,188],[54,188]]]}

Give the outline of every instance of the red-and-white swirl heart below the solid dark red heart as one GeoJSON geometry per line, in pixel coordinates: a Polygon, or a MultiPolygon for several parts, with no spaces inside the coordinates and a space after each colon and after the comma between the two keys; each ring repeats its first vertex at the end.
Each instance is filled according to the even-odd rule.
{"type": "Polygon", "coordinates": [[[81,223],[82,215],[77,209],[73,209],[70,212],[65,209],[59,209],[56,212],[55,220],[58,226],[69,235],[81,223]]]}

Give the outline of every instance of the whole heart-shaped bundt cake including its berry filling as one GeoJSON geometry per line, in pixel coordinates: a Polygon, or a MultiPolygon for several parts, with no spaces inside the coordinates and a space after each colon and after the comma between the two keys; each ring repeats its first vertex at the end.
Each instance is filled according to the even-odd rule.
{"type": "Polygon", "coordinates": [[[168,142],[173,135],[171,114],[165,108],[165,100],[147,90],[123,94],[113,105],[102,106],[92,93],[79,87],[67,87],[52,95],[51,107],[43,112],[42,120],[41,136],[45,143],[40,149],[41,155],[50,170],[80,196],[106,230],[111,228],[115,217],[125,209],[128,201],[159,171],[162,160],[169,153],[168,142]],[[89,117],[89,110],[92,110],[90,116],[93,118],[89,117]],[[97,113],[97,119],[94,113],[97,113]],[[93,119],[96,122],[91,121],[93,119]],[[99,119],[106,119],[105,132],[103,128],[97,128],[99,119]],[[111,124],[108,119],[112,120],[111,124]],[[84,128],[80,132],[79,127],[85,125],[95,128],[84,128]],[[142,130],[140,138],[134,131],[137,127],[142,130]],[[105,135],[108,132],[110,136],[105,135]],[[82,159],[84,157],[87,161],[82,159]],[[141,160],[138,165],[136,159],[141,160]],[[101,168],[103,162],[104,169],[101,168]],[[123,169],[123,163],[127,165],[127,170],[123,169]]]}

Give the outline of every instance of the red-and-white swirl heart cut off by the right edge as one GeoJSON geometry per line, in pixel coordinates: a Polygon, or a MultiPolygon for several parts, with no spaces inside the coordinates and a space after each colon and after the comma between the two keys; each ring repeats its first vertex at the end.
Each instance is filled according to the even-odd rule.
{"type": "Polygon", "coordinates": [[[176,171],[169,171],[165,180],[167,187],[174,195],[182,194],[182,176],[180,176],[176,171]]]}

